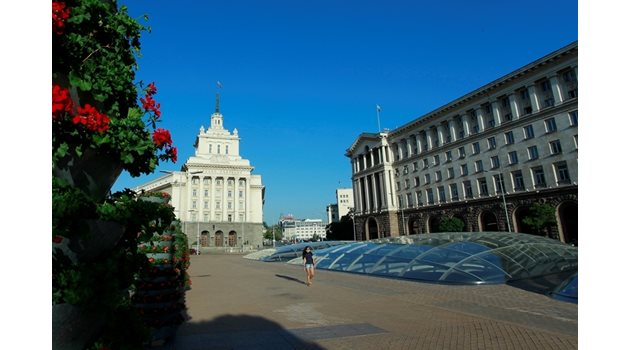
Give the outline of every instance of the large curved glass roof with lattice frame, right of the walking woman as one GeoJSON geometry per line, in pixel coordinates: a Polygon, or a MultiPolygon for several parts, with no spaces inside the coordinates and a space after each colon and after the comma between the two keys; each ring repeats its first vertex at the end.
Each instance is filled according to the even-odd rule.
{"type": "MultiPolygon", "coordinates": [[[[576,247],[545,237],[508,232],[387,237],[320,249],[314,255],[320,269],[425,282],[510,283],[525,288],[528,281],[545,278],[547,284],[553,284],[544,287],[547,293],[576,275],[578,266],[576,247]]],[[[301,260],[290,263],[301,264],[301,260]]],[[[577,277],[575,280],[577,298],[577,277]]]]}

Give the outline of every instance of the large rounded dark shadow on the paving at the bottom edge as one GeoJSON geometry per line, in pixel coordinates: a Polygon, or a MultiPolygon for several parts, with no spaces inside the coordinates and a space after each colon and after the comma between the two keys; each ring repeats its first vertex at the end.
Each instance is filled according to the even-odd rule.
{"type": "Polygon", "coordinates": [[[147,350],[202,349],[312,349],[318,344],[302,339],[266,318],[250,315],[224,315],[210,321],[187,322],[161,346],[147,350]]]}

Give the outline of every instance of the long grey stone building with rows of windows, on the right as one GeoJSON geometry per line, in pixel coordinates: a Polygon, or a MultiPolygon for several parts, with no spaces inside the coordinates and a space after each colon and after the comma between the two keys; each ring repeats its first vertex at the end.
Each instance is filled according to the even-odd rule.
{"type": "MultiPolygon", "coordinates": [[[[446,210],[467,219],[467,230],[480,230],[484,206],[497,197],[511,208],[497,211],[499,228],[518,230],[519,209],[530,198],[559,207],[577,202],[577,47],[567,45],[395,130],[359,135],[346,152],[358,235],[430,232],[432,219],[446,210]]],[[[568,241],[570,234],[559,230],[568,241]]]]}

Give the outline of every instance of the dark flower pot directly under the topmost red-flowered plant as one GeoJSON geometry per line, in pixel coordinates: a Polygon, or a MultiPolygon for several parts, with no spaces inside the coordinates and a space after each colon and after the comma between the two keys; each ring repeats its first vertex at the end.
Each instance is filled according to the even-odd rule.
{"type": "Polygon", "coordinates": [[[74,153],[64,157],[53,166],[53,175],[81,189],[95,201],[101,202],[122,170],[122,162],[101,155],[93,149],[87,149],[80,157],[74,153]]]}

